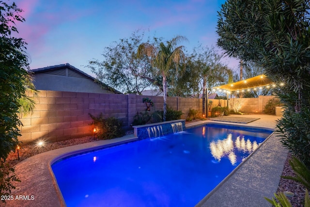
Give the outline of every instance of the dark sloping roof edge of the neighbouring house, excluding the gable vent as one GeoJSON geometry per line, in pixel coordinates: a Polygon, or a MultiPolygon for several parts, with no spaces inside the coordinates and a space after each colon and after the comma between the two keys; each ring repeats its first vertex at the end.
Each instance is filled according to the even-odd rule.
{"type": "Polygon", "coordinates": [[[83,71],[79,70],[78,68],[76,68],[76,67],[74,67],[74,66],[72,66],[72,65],[70,65],[68,63],[58,64],[58,65],[53,65],[53,66],[47,66],[47,67],[42,67],[42,68],[37,68],[37,69],[31,69],[31,71],[34,74],[36,74],[36,73],[47,73],[47,72],[52,72],[52,71],[57,73],[57,71],[60,71],[61,69],[65,69],[65,68],[69,68],[69,69],[71,69],[71,70],[76,72],[76,73],[72,73],[71,74],[72,77],[88,78],[88,79],[91,79],[94,82],[98,83],[102,89],[111,91],[111,92],[113,92],[115,94],[123,94],[123,93],[117,91],[116,89],[110,87],[109,85],[101,82],[100,80],[97,80],[97,79],[93,78],[92,76],[88,75],[87,73],[84,73],[83,71]]]}

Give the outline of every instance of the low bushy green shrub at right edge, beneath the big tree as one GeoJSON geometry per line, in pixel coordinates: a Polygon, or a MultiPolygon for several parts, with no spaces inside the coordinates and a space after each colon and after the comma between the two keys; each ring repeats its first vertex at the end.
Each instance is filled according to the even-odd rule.
{"type": "Polygon", "coordinates": [[[283,117],[277,121],[276,132],[279,132],[280,142],[293,155],[300,158],[310,167],[310,108],[303,107],[299,113],[286,109],[283,117]]]}

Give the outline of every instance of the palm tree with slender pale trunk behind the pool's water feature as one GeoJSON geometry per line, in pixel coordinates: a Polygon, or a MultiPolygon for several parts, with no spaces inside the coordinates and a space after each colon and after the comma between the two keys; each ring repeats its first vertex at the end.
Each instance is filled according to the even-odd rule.
{"type": "MultiPolygon", "coordinates": [[[[177,46],[181,41],[187,40],[184,36],[175,36],[165,43],[161,39],[154,38],[155,43],[142,43],[138,48],[138,56],[147,55],[151,65],[158,70],[163,78],[164,93],[164,114],[163,121],[166,121],[167,114],[167,74],[173,68],[178,68],[181,62],[185,62],[184,46],[177,46]]],[[[184,64],[185,66],[185,64],[184,64]]]]}

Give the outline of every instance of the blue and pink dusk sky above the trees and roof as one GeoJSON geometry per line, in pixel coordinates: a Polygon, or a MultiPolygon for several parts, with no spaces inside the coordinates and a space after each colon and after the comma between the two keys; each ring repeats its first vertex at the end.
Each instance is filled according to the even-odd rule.
{"type": "MultiPolygon", "coordinates": [[[[10,2],[13,2],[10,0],[10,2]]],[[[217,11],[225,0],[15,0],[26,19],[19,36],[28,43],[31,69],[69,63],[84,66],[102,60],[104,47],[136,30],[170,40],[186,36],[182,45],[217,47],[217,11]],[[48,2],[48,3],[47,3],[48,2]]],[[[236,69],[238,61],[223,63],[236,69]]]]}

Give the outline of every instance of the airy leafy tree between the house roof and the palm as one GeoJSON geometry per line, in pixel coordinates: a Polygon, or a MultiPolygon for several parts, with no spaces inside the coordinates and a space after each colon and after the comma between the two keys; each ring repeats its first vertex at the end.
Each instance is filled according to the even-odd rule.
{"type": "Polygon", "coordinates": [[[119,88],[124,93],[138,93],[152,85],[152,68],[149,59],[137,57],[137,50],[144,38],[144,32],[133,32],[129,38],[113,42],[103,51],[103,61],[89,61],[88,68],[96,78],[111,86],[119,88]]]}

